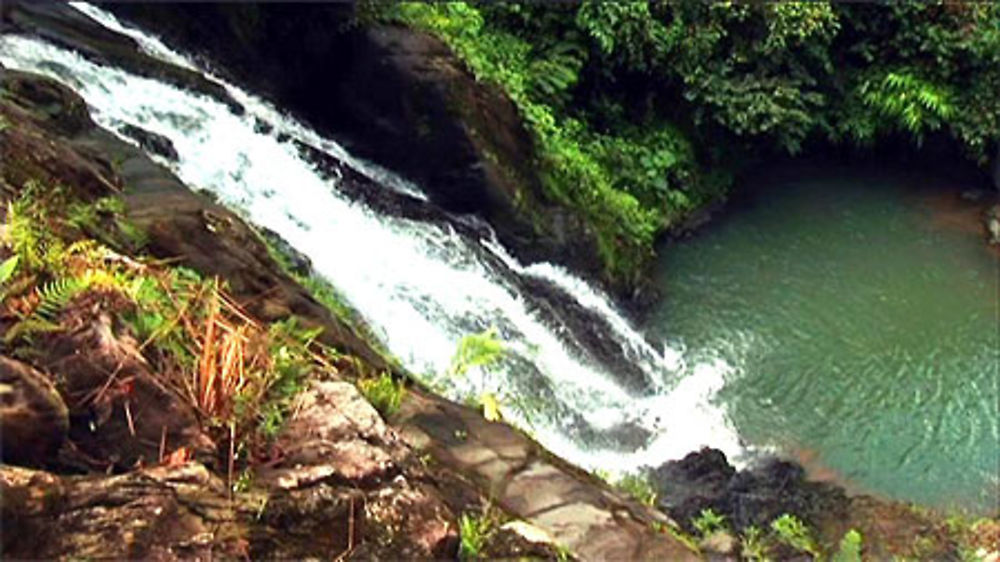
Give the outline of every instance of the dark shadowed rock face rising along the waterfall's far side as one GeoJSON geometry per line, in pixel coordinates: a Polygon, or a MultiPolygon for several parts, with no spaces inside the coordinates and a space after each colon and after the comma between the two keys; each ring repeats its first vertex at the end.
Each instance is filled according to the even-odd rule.
{"type": "Polygon", "coordinates": [[[602,272],[584,222],[543,194],[514,105],[440,41],[360,27],[342,4],[108,8],[220,63],[355,155],[414,180],[446,210],[481,215],[522,260],[602,272]]]}

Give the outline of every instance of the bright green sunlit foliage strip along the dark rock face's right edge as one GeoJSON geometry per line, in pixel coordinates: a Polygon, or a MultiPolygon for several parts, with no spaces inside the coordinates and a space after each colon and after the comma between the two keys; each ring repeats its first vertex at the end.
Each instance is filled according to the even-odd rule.
{"type": "MultiPolygon", "coordinates": [[[[599,27],[603,15],[616,14],[621,21],[635,22],[634,32],[645,33],[644,4],[629,4],[622,9],[600,3],[584,6],[577,17],[572,10],[558,7],[508,5],[505,9],[481,11],[464,2],[404,2],[386,5],[381,18],[434,33],[459,55],[478,80],[496,84],[507,93],[535,138],[546,194],[586,217],[596,234],[607,277],[629,284],[637,280],[652,257],[656,235],[691,208],[691,197],[685,191],[697,191],[700,180],[679,131],[657,136],[660,127],[646,124],[628,135],[598,132],[586,116],[572,114],[571,93],[580,86],[584,66],[590,60],[589,43],[572,22],[579,19],[591,37],[599,41],[603,37],[611,50],[628,48],[625,43],[608,43],[612,40],[609,28],[599,27]],[[563,32],[522,37],[517,29],[491,25],[484,11],[491,20],[534,28],[538,25],[532,23],[535,18],[529,22],[527,16],[517,17],[532,12],[539,16],[537,21],[561,27],[563,32]],[[569,25],[564,25],[566,22],[569,25]],[[541,37],[544,40],[539,41],[541,37]],[[657,143],[647,148],[644,141],[651,138],[657,143]],[[615,165],[621,161],[620,155],[628,152],[645,153],[646,158],[630,167],[633,173],[629,177],[619,178],[615,165]],[[683,186],[670,183],[669,168],[686,170],[683,186]]],[[[658,32],[650,33],[659,37],[658,32]]]]}

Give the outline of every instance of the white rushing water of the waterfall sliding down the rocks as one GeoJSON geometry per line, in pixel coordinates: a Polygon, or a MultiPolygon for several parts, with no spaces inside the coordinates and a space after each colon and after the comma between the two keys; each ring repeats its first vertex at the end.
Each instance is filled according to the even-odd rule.
{"type": "MultiPolygon", "coordinates": [[[[74,6],[135,38],[152,56],[197,69],[112,15],[86,4],[74,6]]],[[[735,459],[743,453],[724,408],[713,400],[735,376],[725,361],[685,361],[688,354],[679,346],[657,349],[605,295],[560,267],[524,266],[495,240],[469,240],[447,226],[379,215],[352,202],[335,180],[316,173],[292,142],[280,142],[278,133],[338,158],[380,185],[426,198],[418,187],[351,157],[263,100],[226,84],[246,108],[236,116],[205,96],[20,36],[0,37],[0,62],[66,83],[103,127],[116,131],[132,124],[169,138],[179,161],[158,161],[188,186],[217,194],[308,255],[315,271],[337,287],[408,369],[455,399],[495,393],[505,417],[570,462],[616,474],[705,445],[735,459]],[[267,121],[274,130],[256,132],[255,120],[267,121]],[[497,265],[484,260],[483,247],[509,268],[508,275],[551,283],[603,317],[610,337],[647,377],[650,390],[636,396],[613,373],[581,359],[560,337],[563,328],[547,325],[497,265]],[[445,375],[462,337],[491,326],[510,351],[503,364],[467,377],[445,375]],[[616,428],[644,437],[623,445],[616,442],[616,428]]]]}

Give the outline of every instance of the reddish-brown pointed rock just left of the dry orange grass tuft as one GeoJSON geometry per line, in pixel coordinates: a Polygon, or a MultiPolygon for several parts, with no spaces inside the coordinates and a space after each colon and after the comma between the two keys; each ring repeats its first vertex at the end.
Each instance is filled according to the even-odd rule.
{"type": "Polygon", "coordinates": [[[62,329],[40,343],[41,362],[69,408],[70,440],[94,459],[93,468],[148,466],[181,447],[212,458],[215,446],[192,406],[114,324],[112,310],[128,306],[122,299],[85,293],[60,315],[62,329]]]}

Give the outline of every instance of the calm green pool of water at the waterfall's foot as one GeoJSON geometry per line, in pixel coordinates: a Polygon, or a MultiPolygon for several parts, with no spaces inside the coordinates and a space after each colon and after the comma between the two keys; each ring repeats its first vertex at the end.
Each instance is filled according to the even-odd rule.
{"type": "Polygon", "coordinates": [[[750,445],[855,491],[995,511],[1000,261],[963,186],[837,166],[756,178],[661,250],[647,332],[734,366],[717,400],[750,445]]]}

